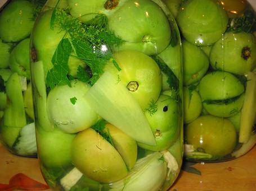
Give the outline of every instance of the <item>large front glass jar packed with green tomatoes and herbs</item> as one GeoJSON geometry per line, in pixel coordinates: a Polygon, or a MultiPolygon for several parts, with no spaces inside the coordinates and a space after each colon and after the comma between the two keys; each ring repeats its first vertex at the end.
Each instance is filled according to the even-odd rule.
{"type": "Polygon", "coordinates": [[[167,190],[182,163],[181,40],[158,0],[48,1],[31,73],[38,158],[59,190],[167,190]]]}

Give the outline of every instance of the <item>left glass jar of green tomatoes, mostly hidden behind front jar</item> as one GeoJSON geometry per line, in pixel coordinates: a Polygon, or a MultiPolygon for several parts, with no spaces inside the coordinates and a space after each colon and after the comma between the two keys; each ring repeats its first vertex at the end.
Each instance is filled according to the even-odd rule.
{"type": "Polygon", "coordinates": [[[0,141],[12,153],[36,157],[30,33],[43,1],[8,1],[0,10],[0,141]]]}

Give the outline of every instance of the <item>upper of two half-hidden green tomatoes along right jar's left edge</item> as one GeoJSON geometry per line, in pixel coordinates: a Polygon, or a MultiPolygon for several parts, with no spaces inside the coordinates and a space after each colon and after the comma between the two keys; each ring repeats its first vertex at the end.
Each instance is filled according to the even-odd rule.
{"type": "Polygon", "coordinates": [[[183,41],[183,84],[191,85],[199,81],[209,67],[207,55],[194,44],[183,41]]]}

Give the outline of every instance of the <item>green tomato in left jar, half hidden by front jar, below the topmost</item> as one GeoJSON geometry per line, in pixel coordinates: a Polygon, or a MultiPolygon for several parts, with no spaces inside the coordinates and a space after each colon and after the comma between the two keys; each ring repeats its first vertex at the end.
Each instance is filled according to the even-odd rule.
{"type": "Polygon", "coordinates": [[[30,79],[29,43],[30,39],[24,39],[15,46],[10,54],[11,71],[28,79],[30,79]]]}

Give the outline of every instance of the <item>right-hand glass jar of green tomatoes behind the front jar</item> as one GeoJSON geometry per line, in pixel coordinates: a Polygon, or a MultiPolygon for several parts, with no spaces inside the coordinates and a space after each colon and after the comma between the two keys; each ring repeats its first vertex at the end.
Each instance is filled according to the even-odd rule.
{"type": "Polygon", "coordinates": [[[235,159],[256,142],[256,17],[246,1],[180,4],[185,159],[235,159]]]}

